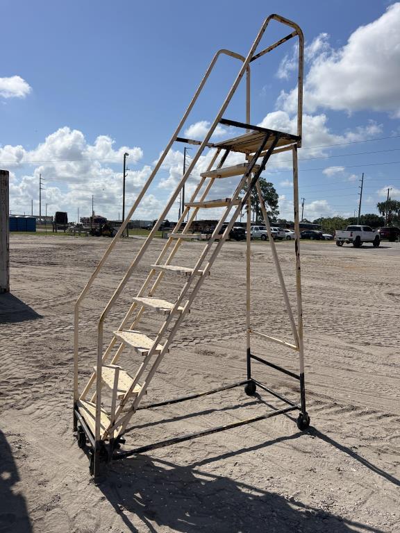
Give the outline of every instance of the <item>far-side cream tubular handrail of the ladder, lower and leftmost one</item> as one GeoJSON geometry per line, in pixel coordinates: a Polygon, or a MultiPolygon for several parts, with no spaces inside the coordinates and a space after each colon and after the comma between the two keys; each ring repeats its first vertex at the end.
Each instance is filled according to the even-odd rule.
{"type": "MultiPolygon", "coordinates": [[[[190,101],[190,104],[188,105],[188,108],[186,109],[185,113],[183,114],[183,117],[181,121],[179,122],[176,130],[174,131],[171,139],[169,139],[169,142],[163,152],[163,154],[160,156],[160,159],[156,163],[156,166],[154,167],[153,171],[151,172],[147,182],[144,184],[142,191],[138,195],[138,198],[136,198],[135,203],[133,203],[131,210],[126,215],[125,220],[122,222],[121,226],[119,227],[119,230],[117,231],[117,234],[113,238],[113,241],[108,246],[106,252],[104,253],[103,257],[101,257],[101,260],[99,261],[99,264],[97,265],[96,269],[94,269],[92,276],[90,276],[90,279],[86,283],[85,287],[83,287],[83,290],[81,291],[81,294],[78,296],[76,303],[74,305],[74,405],[76,404],[76,401],[78,400],[78,328],[79,328],[79,307],[81,306],[81,302],[85,298],[86,294],[88,293],[90,287],[92,287],[94,280],[99,275],[99,271],[103,267],[103,264],[106,262],[108,256],[110,255],[111,251],[113,251],[113,248],[115,247],[115,244],[117,244],[119,237],[122,235],[122,232],[124,232],[128,221],[131,219],[133,213],[138,208],[138,205],[140,201],[142,201],[142,198],[144,194],[146,194],[147,189],[151,185],[153,179],[156,177],[156,174],[158,173],[158,170],[161,167],[161,164],[163,164],[163,161],[167,157],[167,154],[169,153],[169,150],[171,149],[172,144],[174,144],[176,137],[178,136],[178,133],[183,128],[183,125],[185,124],[185,121],[188,119],[188,116],[190,112],[192,111],[192,108],[194,104],[197,102],[197,99],[199,98],[199,94],[203,90],[204,85],[206,85],[206,82],[213,71],[215,64],[217,63],[217,60],[219,59],[219,56],[222,54],[226,56],[231,56],[233,58],[236,58],[238,60],[241,60],[244,62],[245,58],[244,56],[241,56],[239,53],[233,52],[228,49],[220,49],[218,50],[213,59],[210,62],[210,65],[208,65],[208,69],[206,70],[206,73],[204,74],[201,82],[199,83],[199,87],[197,87],[196,92],[194,93],[194,96],[192,100],[190,101]]],[[[250,81],[250,67],[247,67],[247,88],[249,92],[249,81],[250,81]]],[[[247,108],[249,107],[249,103],[247,103],[247,108]]],[[[182,184],[183,185],[183,184],[182,184]]],[[[156,226],[151,230],[147,237],[147,241],[151,242],[153,239],[153,236],[156,233],[156,230],[158,230],[159,224],[156,224],[156,226]]]]}

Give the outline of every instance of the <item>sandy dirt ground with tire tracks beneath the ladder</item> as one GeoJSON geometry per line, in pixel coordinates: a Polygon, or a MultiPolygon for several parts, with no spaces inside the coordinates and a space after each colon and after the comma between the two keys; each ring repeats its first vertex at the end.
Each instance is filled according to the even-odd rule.
{"type": "MultiPolygon", "coordinates": [[[[81,314],[80,387],[97,321],[142,240],[124,239],[81,314]]],[[[0,296],[0,532],[400,532],[400,248],[302,244],[306,387],[311,426],[281,415],[136,455],[95,484],[72,432],[73,306],[110,244],[103,238],[11,237],[11,293],[0,296]]],[[[156,240],[106,321],[108,341],[163,242],[156,240]]],[[[201,244],[185,244],[191,266],[201,244]]],[[[294,303],[292,242],[278,243],[294,303]]],[[[290,340],[269,244],[252,254],[253,328],[290,340]]],[[[245,245],[226,243],[151,382],[155,402],[246,377],[245,245]]],[[[158,291],[173,301],[183,278],[158,291]]],[[[156,332],[160,316],[145,314],[156,332]]],[[[297,371],[294,352],[252,350],[297,371]]],[[[124,353],[133,372],[140,357],[124,353]]],[[[253,364],[297,401],[297,382],[253,364]]],[[[242,387],[139,411],[131,448],[283,407],[242,387]]]]}

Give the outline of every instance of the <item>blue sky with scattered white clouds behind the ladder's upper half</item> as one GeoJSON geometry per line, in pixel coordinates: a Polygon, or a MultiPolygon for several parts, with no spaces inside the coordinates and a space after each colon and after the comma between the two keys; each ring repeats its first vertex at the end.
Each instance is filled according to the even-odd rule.
{"type": "MultiPolygon", "coordinates": [[[[297,22],[306,37],[303,149],[299,151],[304,216],[363,212],[400,199],[400,4],[375,0],[51,1],[3,0],[0,70],[0,167],[9,169],[10,209],[38,213],[38,176],[48,212],[77,208],[117,218],[122,211],[122,154],[128,159],[127,200],[149,176],[215,51],[246,55],[271,12],[297,22]],[[306,6],[306,8],[304,7],[306,6]],[[391,137],[391,138],[387,138],[391,137]],[[335,146],[332,146],[335,145],[335,146]]],[[[272,23],[262,47],[288,33],[272,23]]],[[[294,43],[255,62],[251,122],[287,130],[294,124],[294,43]]],[[[204,135],[238,64],[223,59],[182,134],[204,135]]],[[[244,120],[240,91],[226,117],[244,120]]],[[[293,132],[295,133],[295,132],[293,132]]],[[[229,134],[219,131],[216,139],[229,134]]],[[[181,175],[183,145],[156,177],[133,218],[152,219],[181,175]]],[[[194,149],[190,151],[194,155],[194,149]]],[[[206,164],[207,155],[201,164],[206,164]]],[[[265,177],[292,219],[288,155],[265,177]]],[[[197,173],[188,184],[194,187],[197,173]]],[[[215,197],[229,196],[222,180],[215,197]]],[[[43,208],[44,211],[44,208],[43,208]]],[[[170,217],[176,219],[177,205],[170,217]]],[[[206,214],[205,214],[206,216],[206,214]]],[[[210,213],[207,213],[207,217],[210,213]]]]}

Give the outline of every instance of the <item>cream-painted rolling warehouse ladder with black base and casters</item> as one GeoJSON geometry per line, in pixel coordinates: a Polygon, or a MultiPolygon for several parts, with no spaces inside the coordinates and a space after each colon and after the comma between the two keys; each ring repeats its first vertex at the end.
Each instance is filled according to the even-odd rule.
{"type": "Polygon", "coordinates": [[[297,24],[285,19],[279,15],[270,15],[253,42],[251,49],[247,57],[240,56],[238,53],[222,49],[218,51],[208,67],[203,80],[201,81],[194,97],[186,110],[183,118],[181,119],[178,127],[176,128],[172,138],[163,154],[160,156],[155,168],[153,169],[149,180],[144,185],[142,192],[138,195],[134,205],[132,206],[128,216],[124,223],[119,228],[115,239],[108,247],[103,258],[99,262],[97,269],[92,274],[88,284],[83,289],[81,295],[76,301],[75,306],[75,318],[74,318],[74,430],[77,432],[78,444],[81,448],[88,450],[90,455],[90,471],[93,475],[99,475],[100,463],[103,460],[122,459],[136,453],[144,452],[154,448],[160,448],[162,446],[168,446],[172,443],[182,442],[197,437],[204,436],[227,430],[229,428],[236,428],[240,425],[256,422],[265,418],[270,418],[278,414],[283,414],[293,410],[299,410],[299,418],[297,419],[297,425],[301,430],[308,428],[310,418],[306,411],[306,393],[304,387],[304,363],[303,363],[303,325],[302,325],[302,311],[301,311],[301,279],[300,279],[300,248],[299,248],[299,194],[297,186],[297,148],[301,146],[301,117],[302,117],[302,88],[303,88],[303,34],[297,24]],[[291,33],[278,40],[266,49],[263,49],[256,53],[258,44],[265,33],[265,30],[269,22],[274,19],[285,26],[289,26],[292,30],[291,33]],[[271,130],[268,128],[262,128],[251,124],[250,119],[250,64],[253,60],[263,57],[277,46],[280,46],[284,42],[290,40],[292,37],[298,37],[299,39],[299,76],[298,76],[298,115],[297,115],[297,134],[285,133],[281,131],[271,130]],[[196,103],[199,94],[203,90],[211,71],[215,67],[219,56],[222,54],[231,56],[242,62],[238,75],[229,90],[222,107],[219,109],[213,124],[203,141],[197,141],[194,139],[185,139],[179,137],[179,134],[185,125],[185,121],[188,119],[194,104],[196,103]],[[235,121],[224,117],[224,112],[228,107],[235,91],[238,89],[242,78],[246,80],[246,122],[235,121]],[[215,128],[219,124],[229,126],[239,130],[241,133],[236,137],[226,139],[222,142],[210,142],[215,128]],[[169,201],[165,207],[165,210],[158,217],[158,221],[150,231],[149,236],[144,241],[137,255],[135,256],[130,267],[126,271],[124,278],[122,278],[113,296],[106,305],[98,324],[98,342],[97,342],[97,360],[94,364],[92,375],[85,385],[81,393],[78,391],[78,364],[79,364],[79,309],[85,295],[88,293],[94,279],[106,262],[108,256],[113,251],[117,240],[124,232],[128,221],[131,219],[133,212],[142,201],[144,194],[151,185],[153,179],[157,176],[158,171],[163,164],[163,161],[167,157],[169,150],[172,148],[174,142],[183,142],[186,144],[192,144],[198,146],[197,153],[194,155],[192,162],[188,169],[185,171],[180,183],[176,187],[174,194],[169,198],[169,201]],[[208,165],[208,169],[201,174],[201,179],[194,189],[194,193],[190,198],[190,201],[185,203],[183,213],[178,220],[177,226],[168,235],[168,239],[165,242],[165,246],[161,251],[158,259],[154,264],[151,264],[149,273],[144,281],[142,287],[138,291],[137,296],[133,298],[131,306],[129,307],[124,320],[115,332],[113,337],[108,343],[106,349],[103,349],[103,324],[106,316],[110,312],[110,309],[117,301],[117,298],[124,290],[126,283],[131,278],[132,273],[138,267],[138,264],[142,260],[144,253],[147,251],[153,238],[156,235],[156,231],[160,227],[160,224],[165,219],[167,213],[172,208],[172,205],[176,201],[178,194],[184,187],[190,174],[192,173],[195,165],[197,164],[200,156],[205,150],[213,151],[213,157],[208,165]],[[293,160],[293,183],[294,183],[294,221],[296,231],[295,241],[295,271],[297,280],[297,321],[294,319],[294,313],[290,305],[288,298],[288,292],[285,287],[283,274],[278,260],[278,254],[276,252],[274,240],[271,234],[271,228],[269,225],[269,218],[267,215],[267,207],[263,201],[261,194],[260,184],[258,178],[265,169],[269,158],[275,153],[283,151],[292,152],[293,160]],[[242,154],[243,162],[239,164],[228,164],[226,162],[228,155],[242,154]],[[229,198],[213,198],[213,185],[216,181],[223,178],[235,178],[237,185],[229,198]],[[250,194],[256,189],[260,198],[261,210],[263,212],[263,218],[265,220],[265,226],[267,227],[267,233],[269,236],[269,242],[271,244],[272,256],[276,265],[278,278],[280,281],[283,299],[285,301],[286,310],[290,319],[290,325],[292,328],[292,341],[283,341],[266,335],[263,332],[256,332],[251,329],[250,321],[250,194]],[[204,393],[192,394],[185,398],[176,398],[173,400],[165,400],[160,403],[153,403],[147,405],[140,405],[144,395],[147,393],[149,384],[153,375],[156,373],[158,366],[162,362],[163,358],[169,352],[169,346],[171,345],[176,332],[181,327],[183,319],[186,314],[190,312],[192,302],[197,296],[197,293],[203,285],[203,282],[207,282],[207,278],[212,271],[213,263],[217,258],[219,251],[221,250],[224,242],[228,238],[229,232],[233,227],[236,219],[240,216],[240,212],[244,208],[247,210],[247,319],[246,319],[246,331],[247,331],[247,378],[241,382],[234,384],[228,384],[219,389],[213,389],[212,391],[206,391],[204,393]],[[197,213],[202,209],[220,208],[222,210],[221,217],[210,236],[203,246],[199,246],[199,255],[196,263],[191,267],[182,267],[174,264],[174,256],[181,248],[185,246],[185,242],[188,239],[201,239],[201,234],[191,232],[192,223],[197,217],[197,213]],[[186,223],[185,220],[188,219],[186,223]],[[183,227],[183,229],[182,229],[183,227]],[[170,301],[165,301],[158,298],[158,288],[160,282],[167,276],[181,276],[182,284],[181,290],[177,298],[171,298],[170,301]],[[163,316],[163,322],[160,329],[156,333],[149,337],[144,335],[144,310],[151,310],[163,316]],[[256,335],[272,343],[280,344],[290,350],[294,350],[299,353],[299,374],[296,374],[287,369],[283,369],[276,364],[268,362],[266,359],[262,359],[251,353],[251,335],[256,335]],[[136,353],[140,355],[141,362],[138,366],[138,370],[134,375],[129,375],[122,366],[119,366],[119,360],[124,353],[124,356],[129,353],[136,353]],[[272,391],[264,384],[255,380],[251,375],[251,362],[256,360],[264,363],[269,367],[272,367],[278,371],[289,375],[295,380],[299,381],[300,400],[299,403],[294,403],[288,398],[285,398],[276,391],[272,391]],[[248,418],[246,420],[230,423],[219,428],[212,428],[196,434],[190,434],[183,437],[176,437],[161,441],[158,443],[150,444],[149,446],[142,446],[141,448],[135,448],[134,450],[124,450],[121,448],[124,444],[124,434],[128,431],[128,423],[131,421],[132,416],[139,409],[151,409],[151,407],[160,407],[161,405],[168,405],[171,403],[177,403],[192,398],[198,398],[206,394],[215,394],[225,389],[231,389],[234,387],[244,386],[246,393],[251,396],[255,393],[256,387],[260,387],[269,394],[276,396],[285,403],[285,407],[277,409],[272,412],[267,412],[262,416],[256,418],[248,418]],[[107,407],[104,407],[105,405],[107,407]],[[103,407],[102,407],[103,406],[103,407]]]}

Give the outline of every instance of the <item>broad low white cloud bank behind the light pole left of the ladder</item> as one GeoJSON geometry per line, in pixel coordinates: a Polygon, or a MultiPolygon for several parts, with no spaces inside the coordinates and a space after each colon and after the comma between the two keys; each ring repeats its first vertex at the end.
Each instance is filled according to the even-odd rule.
{"type": "MultiPolygon", "coordinates": [[[[38,213],[39,174],[42,174],[42,212],[48,203],[49,213],[67,210],[73,220],[77,207],[82,215],[91,211],[93,194],[97,213],[117,217],[122,205],[123,154],[129,153],[128,162],[133,165],[142,158],[142,149],[137,146],[116,148],[114,145],[113,139],[107,135],[99,135],[94,144],[90,144],[81,131],[65,127],[48,135],[44,142],[31,151],[23,146],[0,148],[0,160],[10,161],[2,166],[13,165],[15,169],[22,168],[22,165],[34,167],[31,175],[19,173],[19,176],[13,176],[10,180],[10,208],[13,212],[31,212],[33,198],[34,212],[38,213]],[[117,167],[114,167],[115,164],[117,167]]],[[[149,165],[127,172],[127,206],[130,207],[150,173],[149,165]]],[[[145,210],[146,205],[149,205],[151,209],[157,207],[159,211],[156,198],[153,197],[152,202],[149,198],[141,209],[145,210]]]]}

